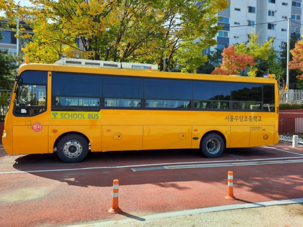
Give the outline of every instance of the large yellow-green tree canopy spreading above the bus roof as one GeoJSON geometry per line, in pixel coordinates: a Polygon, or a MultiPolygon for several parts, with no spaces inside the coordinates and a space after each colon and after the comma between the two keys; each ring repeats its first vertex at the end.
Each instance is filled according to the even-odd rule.
{"type": "Polygon", "coordinates": [[[157,63],[163,70],[179,65],[194,71],[206,62],[201,50],[216,44],[218,11],[225,0],[35,0],[18,7],[0,5],[33,28],[33,44],[23,51],[31,62],[54,62],[62,56],[114,62],[157,63]],[[13,13],[15,12],[15,14],[13,13]],[[200,38],[203,37],[203,38],[200,38]],[[76,40],[81,43],[80,48],[76,40]]]}

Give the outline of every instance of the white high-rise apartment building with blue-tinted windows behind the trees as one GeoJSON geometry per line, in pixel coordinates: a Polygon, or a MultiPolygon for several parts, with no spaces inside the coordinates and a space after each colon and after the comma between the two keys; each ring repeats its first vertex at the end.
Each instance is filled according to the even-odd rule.
{"type": "Polygon", "coordinates": [[[218,13],[218,24],[224,25],[217,34],[217,46],[205,50],[208,53],[215,47],[224,48],[229,44],[247,41],[248,34],[260,32],[259,42],[274,38],[276,50],[281,42],[287,42],[287,32],[301,34],[302,0],[227,0],[228,9],[218,13]],[[291,18],[290,31],[287,18],[291,18]]]}

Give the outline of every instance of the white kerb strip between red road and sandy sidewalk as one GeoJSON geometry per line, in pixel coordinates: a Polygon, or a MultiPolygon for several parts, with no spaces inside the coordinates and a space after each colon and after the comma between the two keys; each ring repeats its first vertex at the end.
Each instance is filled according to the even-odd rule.
{"type": "Polygon", "coordinates": [[[66,227],[104,227],[104,226],[115,226],[118,224],[126,224],[126,223],[133,223],[133,222],[143,224],[144,222],[142,222],[142,221],[167,218],[167,217],[176,217],[176,216],[191,215],[191,214],[197,214],[197,213],[209,213],[209,212],[216,212],[216,211],[223,211],[223,210],[235,210],[235,209],[265,207],[265,206],[287,205],[287,204],[296,204],[296,203],[303,203],[303,198],[206,207],[206,208],[199,208],[199,209],[192,209],[192,210],[183,210],[183,211],[146,215],[146,216],[136,217],[136,218],[127,218],[127,219],[123,219],[123,220],[109,220],[109,221],[90,223],[90,224],[76,224],[76,225],[69,225],[66,227]]]}

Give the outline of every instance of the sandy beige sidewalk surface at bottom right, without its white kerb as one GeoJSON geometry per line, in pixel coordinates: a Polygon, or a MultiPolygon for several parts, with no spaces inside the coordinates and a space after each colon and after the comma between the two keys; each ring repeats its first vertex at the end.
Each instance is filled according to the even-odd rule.
{"type": "Polygon", "coordinates": [[[291,204],[184,215],[113,226],[303,226],[303,204],[291,204]]]}

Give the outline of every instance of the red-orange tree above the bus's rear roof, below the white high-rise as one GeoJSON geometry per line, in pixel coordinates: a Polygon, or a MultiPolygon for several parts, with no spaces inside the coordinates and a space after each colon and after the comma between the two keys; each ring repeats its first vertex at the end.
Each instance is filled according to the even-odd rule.
{"type": "Polygon", "coordinates": [[[254,65],[254,58],[248,53],[236,52],[233,45],[224,48],[222,52],[222,63],[216,67],[211,74],[217,75],[239,75],[240,71],[245,71],[249,66],[254,65]]]}

